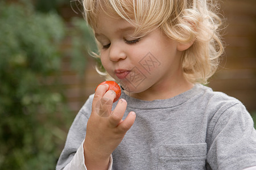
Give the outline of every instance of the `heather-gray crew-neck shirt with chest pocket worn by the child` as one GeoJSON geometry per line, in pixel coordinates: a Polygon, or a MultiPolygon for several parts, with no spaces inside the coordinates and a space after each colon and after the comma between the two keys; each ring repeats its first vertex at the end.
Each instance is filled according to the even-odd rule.
{"type": "MultiPolygon", "coordinates": [[[[122,92],[134,125],[112,153],[113,169],[243,169],[256,165],[256,131],[243,104],[196,84],[166,100],[122,92]]],[[[56,169],[71,162],[85,138],[93,95],[77,114],[56,169]]],[[[115,105],[113,104],[113,108],[115,105]]]]}

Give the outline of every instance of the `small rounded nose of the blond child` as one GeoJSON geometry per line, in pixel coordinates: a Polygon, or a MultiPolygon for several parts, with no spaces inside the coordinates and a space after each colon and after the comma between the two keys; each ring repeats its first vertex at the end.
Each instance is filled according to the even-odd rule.
{"type": "Polygon", "coordinates": [[[125,59],[125,58],[126,58],[126,54],[123,51],[121,44],[110,45],[109,59],[111,61],[119,61],[119,59],[125,59]]]}

